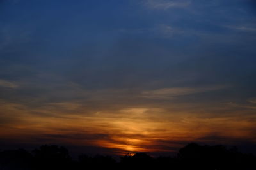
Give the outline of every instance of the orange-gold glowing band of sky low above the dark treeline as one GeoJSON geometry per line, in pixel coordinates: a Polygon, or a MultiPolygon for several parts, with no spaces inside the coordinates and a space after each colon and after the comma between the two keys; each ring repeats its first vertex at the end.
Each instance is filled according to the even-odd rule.
{"type": "Polygon", "coordinates": [[[254,115],[207,117],[183,112],[168,113],[161,108],[122,108],[115,112],[97,111],[88,115],[61,115],[54,110],[54,113],[48,113],[49,116],[45,108],[28,111],[18,104],[5,104],[1,109],[8,113],[1,115],[2,118],[19,115],[17,121],[0,127],[1,138],[23,143],[40,143],[36,136],[49,143],[114,148],[116,153],[123,154],[172,152],[170,147],[179,148],[180,142],[211,141],[205,137],[214,135],[223,139],[255,141],[250,131],[255,125],[252,121],[256,118],[254,115]],[[36,112],[40,114],[36,115],[36,112]]]}

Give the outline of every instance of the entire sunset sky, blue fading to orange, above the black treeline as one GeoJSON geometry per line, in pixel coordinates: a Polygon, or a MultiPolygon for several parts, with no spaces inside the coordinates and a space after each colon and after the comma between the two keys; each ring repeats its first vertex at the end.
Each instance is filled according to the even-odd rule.
{"type": "Polygon", "coordinates": [[[0,147],[256,153],[255,45],[253,0],[0,0],[0,147]]]}

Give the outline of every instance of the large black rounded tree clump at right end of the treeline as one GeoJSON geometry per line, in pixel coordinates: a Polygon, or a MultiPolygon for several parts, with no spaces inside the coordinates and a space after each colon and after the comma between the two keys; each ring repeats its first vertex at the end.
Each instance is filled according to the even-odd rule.
{"type": "Polygon", "coordinates": [[[223,145],[200,146],[189,143],[180,149],[178,158],[182,169],[255,169],[253,155],[240,153],[237,148],[228,150],[223,145]]]}

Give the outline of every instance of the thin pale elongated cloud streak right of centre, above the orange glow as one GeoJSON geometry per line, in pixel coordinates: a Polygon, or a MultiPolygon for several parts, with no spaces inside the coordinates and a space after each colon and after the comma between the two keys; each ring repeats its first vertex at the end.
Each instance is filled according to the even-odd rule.
{"type": "Polygon", "coordinates": [[[188,94],[196,94],[200,92],[208,92],[212,90],[223,89],[223,86],[213,87],[170,87],[156,90],[149,90],[142,92],[143,97],[152,99],[170,99],[176,96],[183,96],[188,94]]]}

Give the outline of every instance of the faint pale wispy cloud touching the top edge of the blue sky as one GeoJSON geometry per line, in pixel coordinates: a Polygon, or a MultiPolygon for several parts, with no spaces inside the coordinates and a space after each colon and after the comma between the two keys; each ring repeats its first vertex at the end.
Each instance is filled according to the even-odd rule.
{"type": "Polygon", "coordinates": [[[170,8],[185,8],[189,6],[190,1],[147,0],[144,4],[150,9],[168,10],[170,8]]]}

